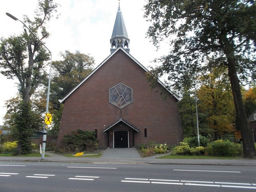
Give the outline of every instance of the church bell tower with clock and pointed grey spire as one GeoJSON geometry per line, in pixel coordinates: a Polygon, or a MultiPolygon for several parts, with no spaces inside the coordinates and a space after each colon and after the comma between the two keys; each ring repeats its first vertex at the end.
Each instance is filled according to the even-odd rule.
{"type": "Polygon", "coordinates": [[[119,0],[115,25],[114,25],[112,36],[110,39],[111,54],[115,52],[118,47],[123,47],[124,50],[129,53],[130,52],[129,43],[130,43],[130,39],[128,38],[128,34],[125,28],[123,15],[120,9],[120,0],[119,0]]]}

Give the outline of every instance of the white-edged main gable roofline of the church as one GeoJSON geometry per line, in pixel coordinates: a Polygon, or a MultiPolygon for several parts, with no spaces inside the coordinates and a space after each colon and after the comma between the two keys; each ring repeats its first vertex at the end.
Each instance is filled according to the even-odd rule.
{"type": "MultiPolygon", "coordinates": [[[[130,55],[128,52],[126,52],[124,50],[124,48],[122,47],[118,47],[116,49],[115,52],[113,52],[112,54],[110,54],[102,63],[100,63],[100,65],[98,65],[87,77],[84,78],[83,81],[81,81],[78,85],[76,85],[76,87],[74,87],[65,97],[63,97],[62,99],[59,100],[60,103],[62,103],[63,101],[65,101],[69,95],[71,95],[81,84],[83,84],[90,76],[92,76],[93,73],[95,73],[95,71],[97,71],[102,65],[104,65],[116,52],[118,52],[119,50],[123,51],[127,56],[129,56],[135,63],[137,63],[141,68],[143,68],[145,70],[145,72],[148,72],[148,69],[145,68],[139,61],[137,61],[136,59],[134,59],[134,57],[132,57],[132,55],[130,55]]],[[[164,83],[162,83],[160,80],[157,80],[158,83],[160,83],[168,92],[170,92],[176,100],[180,101],[180,98],[171,90],[167,89],[166,86],[164,85],[164,83]]]]}

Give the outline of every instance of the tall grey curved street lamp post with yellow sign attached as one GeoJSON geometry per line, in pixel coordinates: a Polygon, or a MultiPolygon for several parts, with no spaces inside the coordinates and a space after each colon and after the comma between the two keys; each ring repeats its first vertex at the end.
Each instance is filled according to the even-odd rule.
{"type": "MultiPolygon", "coordinates": [[[[13,20],[17,21],[18,19],[11,15],[10,13],[6,13],[7,16],[11,17],[13,20]]],[[[46,110],[45,112],[48,113],[48,107],[49,107],[49,96],[50,96],[50,83],[51,83],[51,70],[52,70],[52,52],[45,46],[45,44],[31,31],[25,23],[23,23],[21,20],[20,21],[39,41],[41,44],[44,45],[44,47],[50,52],[51,54],[51,62],[50,62],[50,72],[49,72],[49,81],[48,81],[48,90],[47,90],[47,99],[46,99],[46,110]]],[[[41,159],[44,159],[44,152],[45,152],[45,145],[46,145],[46,134],[47,134],[47,124],[44,125],[44,135],[43,135],[43,145],[42,145],[42,156],[41,159]]]]}

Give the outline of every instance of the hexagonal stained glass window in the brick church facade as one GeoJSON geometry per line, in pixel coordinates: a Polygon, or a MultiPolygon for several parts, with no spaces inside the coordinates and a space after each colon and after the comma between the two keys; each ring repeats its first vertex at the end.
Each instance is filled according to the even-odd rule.
{"type": "Polygon", "coordinates": [[[109,89],[109,103],[124,108],[132,103],[132,89],[124,84],[117,84],[109,89]]]}

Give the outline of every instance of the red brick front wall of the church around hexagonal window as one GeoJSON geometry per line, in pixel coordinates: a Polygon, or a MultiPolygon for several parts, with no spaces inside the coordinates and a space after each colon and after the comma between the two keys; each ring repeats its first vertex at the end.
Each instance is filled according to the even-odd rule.
{"type": "Polygon", "coordinates": [[[149,91],[145,70],[119,50],[65,100],[58,146],[63,136],[73,130],[97,129],[99,147],[107,148],[108,135],[103,130],[120,118],[139,130],[134,134],[135,147],[150,141],[178,144],[183,133],[177,101],[171,94],[162,100],[162,86],[158,84],[157,89],[159,92],[149,91]],[[133,102],[122,109],[109,103],[109,89],[119,83],[133,92],[133,102]],[[144,137],[145,128],[147,137],[144,137]]]}

